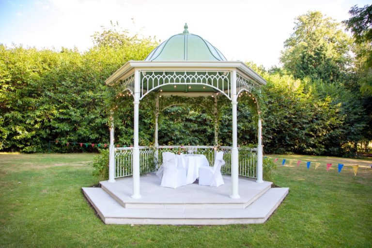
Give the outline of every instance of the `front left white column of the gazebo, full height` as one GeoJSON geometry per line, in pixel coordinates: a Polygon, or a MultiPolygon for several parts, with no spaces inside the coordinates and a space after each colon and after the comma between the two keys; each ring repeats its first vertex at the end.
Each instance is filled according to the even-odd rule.
{"type": "Polygon", "coordinates": [[[138,146],[138,126],[140,109],[140,71],[134,73],[134,137],[133,137],[133,195],[132,198],[139,199],[140,195],[140,147],[138,146]]]}

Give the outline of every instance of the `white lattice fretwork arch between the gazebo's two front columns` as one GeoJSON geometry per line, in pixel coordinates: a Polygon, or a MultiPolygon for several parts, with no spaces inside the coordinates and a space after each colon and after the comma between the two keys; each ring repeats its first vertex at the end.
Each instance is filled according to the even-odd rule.
{"type": "Polygon", "coordinates": [[[161,71],[140,73],[140,99],[147,93],[167,84],[202,84],[216,89],[231,99],[229,72],[161,71]]]}

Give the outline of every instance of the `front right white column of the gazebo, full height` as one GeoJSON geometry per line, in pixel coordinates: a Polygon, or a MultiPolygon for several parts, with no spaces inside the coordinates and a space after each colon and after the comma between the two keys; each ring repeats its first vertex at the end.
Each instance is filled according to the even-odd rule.
{"type": "Polygon", "coordinates": [[[237,125],[237,90],[236,71],[232,72],[232,105],[233,105],[233,149],[231,151],[231,198],[238,199],[239,196],[239,151],[238,151],[238,125],[237,125]]]}

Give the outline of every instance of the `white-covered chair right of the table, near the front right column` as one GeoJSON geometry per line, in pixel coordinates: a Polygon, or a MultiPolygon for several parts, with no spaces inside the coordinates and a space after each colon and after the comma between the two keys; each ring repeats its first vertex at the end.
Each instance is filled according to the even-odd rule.
{"type": "Polygon", "coordinates": [[[221,166],[225,164],[223,160],[223,152],[218,152],[215,158],[213,167],[199,168],[199,185],[215,186],[223,185],[223,178],[221,175],[221,166]]]}

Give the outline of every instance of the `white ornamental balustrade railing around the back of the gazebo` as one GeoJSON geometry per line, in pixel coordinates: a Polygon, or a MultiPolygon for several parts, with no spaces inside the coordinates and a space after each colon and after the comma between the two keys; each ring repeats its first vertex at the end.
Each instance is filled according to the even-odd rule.
{"type": "MultiPolygon", "coordinates": [[[[132,175],[133,148],[121,147],[115,148],[115,178],[132,175]]],[[[221,168],[222,173],[231,173],[231,149],[230,146],[220,146],[219,151],[223,151],[225,165],[221,168]]],[[[239,149],[239,175],[250,178],[257,178],[257,149],[256,148],[238,148],[239,149]]],[[[155,168],[162,164],[162,154],[172,152],[175,154],[193,154],[205,155],[209,165],[213,166],[217,147],[215,146],[176,146],[163,145],[155,147],[140,146],[140,173],[155,171],[155,168]]]]}

